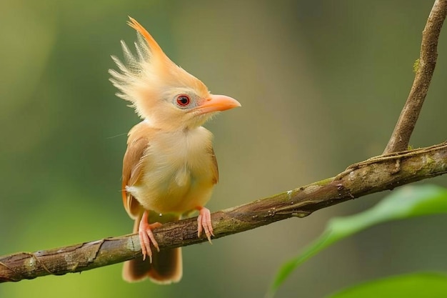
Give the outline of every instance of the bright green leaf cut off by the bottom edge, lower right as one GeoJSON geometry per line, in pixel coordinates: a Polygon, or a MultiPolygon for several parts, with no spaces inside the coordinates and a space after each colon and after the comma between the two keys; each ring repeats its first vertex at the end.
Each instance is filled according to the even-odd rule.
{"type": "Polygon", "coordinates": [[[444,298],[446,293],[446,274],[418,272],[357,284],[333,294],[330,298],[444,298]]]}

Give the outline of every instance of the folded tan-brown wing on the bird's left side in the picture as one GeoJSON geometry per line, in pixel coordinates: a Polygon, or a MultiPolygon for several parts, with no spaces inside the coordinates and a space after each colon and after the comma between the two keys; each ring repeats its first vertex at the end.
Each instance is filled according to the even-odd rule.
{"type": "Polygon", "coordinates": [[[146,149],[149,146],[149,131],[144,122],[136,124],[129,131],[129,139],[127,140],[127,150],[123,159],[123,183],[121,194],[126,212],[136,218],[141,213],[141,205],[139,202],[126,191],[126,187],[131,187],[141,179],[143,174],[143,163],[141,162],[146,149]]]}

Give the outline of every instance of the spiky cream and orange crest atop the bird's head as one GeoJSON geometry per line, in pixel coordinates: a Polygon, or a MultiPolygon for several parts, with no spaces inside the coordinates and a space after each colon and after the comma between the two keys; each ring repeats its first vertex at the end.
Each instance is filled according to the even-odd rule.
{"type": "Polygon", "coordinates": [[[169,88],[192,89],[199,94],[208,93],[206,86],[195,76],[174,64],[161,49],[155,39],[141,24],[129,16],[129,26],[136,29],[136,54],[133,54],[124,41],[121,47],[124,62],[112,56],[119,71],[109,69],[110,81],[122,99],[131,101],[142,118],[151,118],[154,101],[160,100],[169,88]]]}

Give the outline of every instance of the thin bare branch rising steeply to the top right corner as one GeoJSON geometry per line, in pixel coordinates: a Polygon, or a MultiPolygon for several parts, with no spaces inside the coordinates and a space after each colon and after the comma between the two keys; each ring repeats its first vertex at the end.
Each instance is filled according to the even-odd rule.
{"type": "Polygon", "coordinates": [[[446,19],[447,0],[436,0],[422,32],[421,54],[416,64],[416,76],[408,99],[394,127],[391,139],[383,154],[406,150],[410,142],[416,121],[418,121],[424,99],[430,86],[431,77],[438,57],[438,39],[446,19]]]}

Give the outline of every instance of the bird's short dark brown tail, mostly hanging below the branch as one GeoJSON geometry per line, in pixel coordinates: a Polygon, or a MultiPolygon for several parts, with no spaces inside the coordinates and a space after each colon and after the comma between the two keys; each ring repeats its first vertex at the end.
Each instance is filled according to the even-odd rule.
{"type": "MultiPolygon", "coordinates": [[[[162,217],[159,217],[158,214],[152,214],[152,212],[149,214],[149,223],[161,222],[161,224],[164,224],[178,219],[179,216],[176,215],[164,214],[162,217]]],[[[134,233],[138,233],[140,220],[141,215],[135,219],[134,233]]],[[[152,253],[152,263],[149,257],[146,257],[144,261],[143,257],[138,257],[124,262],[123,279],[126,282],[139,282],[149,277],[152,282],[157,284],[179,282],[183,273],[181,248],[168,249],[161,252],[152,249],[152,253]]]]}

